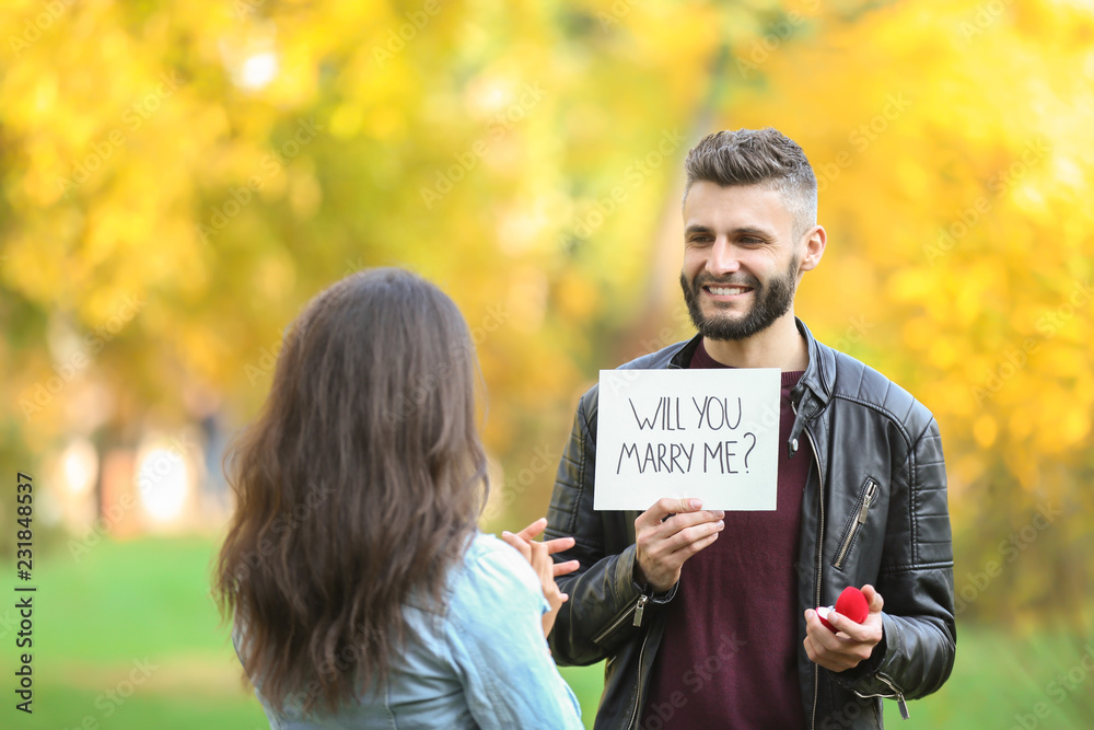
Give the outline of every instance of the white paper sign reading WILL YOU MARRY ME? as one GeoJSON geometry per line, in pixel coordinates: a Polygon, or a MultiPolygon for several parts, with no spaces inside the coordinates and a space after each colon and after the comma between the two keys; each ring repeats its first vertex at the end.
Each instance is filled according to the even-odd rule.
{"type": "Polygon", "coordinates": [[[773,510],[780,386],[777,368],[602,370],[593,508],[773,510]]]}

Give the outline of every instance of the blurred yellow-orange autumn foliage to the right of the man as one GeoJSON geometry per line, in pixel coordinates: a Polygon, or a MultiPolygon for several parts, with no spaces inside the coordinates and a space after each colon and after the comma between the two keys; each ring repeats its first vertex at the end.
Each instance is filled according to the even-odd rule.
{"type": "Polygon", "coordinates": [[[742,50],[764,76],[723,107],[817,171],[829,247],[800,311],[935,413],[959,607],[1089,625],[1094,12],[894,3],[814,32],[742,50]]]}

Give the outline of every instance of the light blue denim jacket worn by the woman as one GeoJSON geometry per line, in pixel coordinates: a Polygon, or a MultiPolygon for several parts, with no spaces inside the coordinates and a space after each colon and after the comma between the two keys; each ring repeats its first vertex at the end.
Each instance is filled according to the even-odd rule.
{"type": "Polygon", "coordinates": [[[275,711],[275,730],[581,728],[581,709],[544,639],[539,579],[515,549],[479,533],[449,578],[442,615],[408,606],[410,637],[381,691],[337,714],[275,711]]]}

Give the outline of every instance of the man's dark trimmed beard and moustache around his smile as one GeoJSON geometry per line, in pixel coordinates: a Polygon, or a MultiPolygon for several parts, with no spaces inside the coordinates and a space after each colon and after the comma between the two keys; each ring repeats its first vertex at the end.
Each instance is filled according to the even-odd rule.
{"type": "Polygon", "coordinates": [[[689,282],[680,271],[680,289],[684,290],[684,301],[687,302],[691,323],[700,335],[707,339],[745,339],[767,329],[776,320],[790,311],[790,305],[794,303],[796,276],[798,257],[794,256],[787,271],[767,285],[761,285],[758,279],[749,275],[717,279],[709,274],[700,274],[694,282],[689,282]],[[754,304],[737,320],[718,313],[706,317],[699,309],[699,291],[708,285],[752,287],[754,304]]]}

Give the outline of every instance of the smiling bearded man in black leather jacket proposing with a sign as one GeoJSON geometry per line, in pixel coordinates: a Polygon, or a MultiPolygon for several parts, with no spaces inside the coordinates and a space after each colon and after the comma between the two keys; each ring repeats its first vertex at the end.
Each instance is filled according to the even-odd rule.
{"type": "Polygon", "coordinates": [[[556,559],[581,565],[558,579],[551,651],[607,659],[596,728],[880,728],[880,697],[907,716],[954,662],[938,424],[794,316],[826,244],[802,149],[770,128],[722,131],[685,169],[680,286],[699,334],[622,368],[781,369],[777,509],[594,512],[593,386],[547,515],[548,537],[577,541],[556,559]],[[870,613],[829,617],[833,633],[814,609],[848,586],[870,613]]]}

